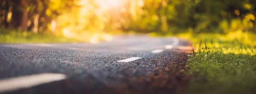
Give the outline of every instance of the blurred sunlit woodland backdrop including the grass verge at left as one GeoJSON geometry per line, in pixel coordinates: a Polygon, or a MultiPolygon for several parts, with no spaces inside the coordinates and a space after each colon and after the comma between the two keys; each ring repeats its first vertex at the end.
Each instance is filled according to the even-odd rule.
{"type": "Polygon", "coordinates": [[[0,42],[97,43],[131,33],[254,38],[255,17],[256,0],[0,0],[0,42]]]}

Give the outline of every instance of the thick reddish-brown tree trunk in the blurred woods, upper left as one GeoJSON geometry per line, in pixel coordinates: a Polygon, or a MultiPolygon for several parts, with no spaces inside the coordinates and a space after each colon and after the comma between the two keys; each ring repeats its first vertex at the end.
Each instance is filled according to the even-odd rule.
{"type": "Polygon", "coordinates": [[[26,0],[22,0],[20,3],[20,7],[22,8],[22,18],[20,22],[20,28],[21,30],[28,30],[28,11],[27,11],[27,3],[26,0]]]}

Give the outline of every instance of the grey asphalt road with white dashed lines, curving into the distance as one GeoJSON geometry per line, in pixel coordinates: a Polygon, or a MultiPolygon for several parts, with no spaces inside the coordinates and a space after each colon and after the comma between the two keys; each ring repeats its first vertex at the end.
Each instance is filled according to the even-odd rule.
{"type": "Polygon", "coordinates": [[[0,93],[180,93],[189,79],[183,75],[189,46],[144,35],[98,44],[0,44],[0,93]]]}

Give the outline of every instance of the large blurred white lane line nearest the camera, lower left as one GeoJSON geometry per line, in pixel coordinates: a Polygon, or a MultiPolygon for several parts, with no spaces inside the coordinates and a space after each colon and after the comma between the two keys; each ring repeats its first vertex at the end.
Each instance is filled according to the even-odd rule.
{"type": "Polygon", "coordinates": [[[57,73],[44,73],[21,77],[12,77],[0,80],[0,93],[15,91],[23,88],[30,88],[44,83],[50,83],[66,79],[66,75],[57,73]]]}

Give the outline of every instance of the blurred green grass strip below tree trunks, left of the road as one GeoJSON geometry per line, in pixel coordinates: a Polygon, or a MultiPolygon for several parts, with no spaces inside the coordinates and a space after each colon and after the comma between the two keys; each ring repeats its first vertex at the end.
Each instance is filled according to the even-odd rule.
{"type": "Polygon", "coordinates": [[[0,29],[0,43],[64,43],[79,42],[52,32],[33,33],[18,30],[0,29]]]}

